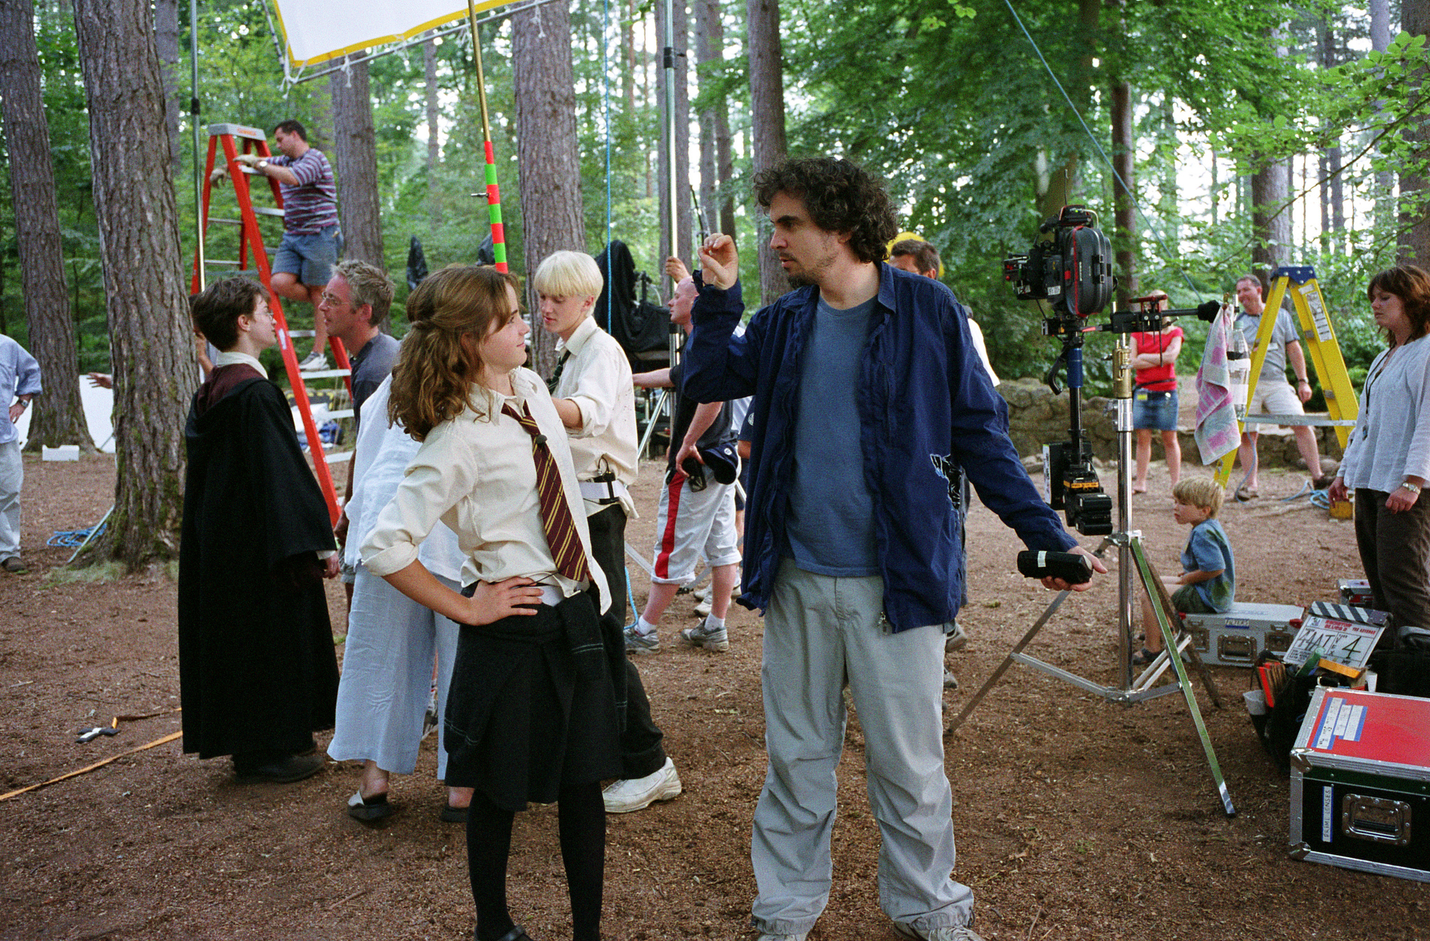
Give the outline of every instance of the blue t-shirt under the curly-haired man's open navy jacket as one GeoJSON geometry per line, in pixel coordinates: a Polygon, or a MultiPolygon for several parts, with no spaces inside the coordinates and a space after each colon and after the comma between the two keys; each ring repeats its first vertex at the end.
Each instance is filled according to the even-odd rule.
{"type": "Polygon", "coordinates": [[[795,566],[817,575],[879,573],[857,400],[877,302],[839,310],[821,297],[805,340],[786,536],[795,566]]]}

